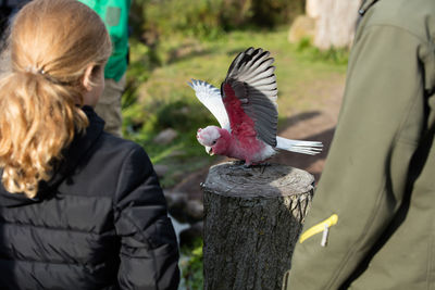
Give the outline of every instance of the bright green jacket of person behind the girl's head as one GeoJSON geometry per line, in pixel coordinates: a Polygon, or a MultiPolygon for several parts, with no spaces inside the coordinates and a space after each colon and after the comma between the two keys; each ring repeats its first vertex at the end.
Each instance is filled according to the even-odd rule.
{"type": "Polygon", "coordinates": [[[105,64],[104,77],[120,80],[127,70],[128,13],[130,0],[78,0],[97,12],[105,23],[113,52],[105,64]]]}

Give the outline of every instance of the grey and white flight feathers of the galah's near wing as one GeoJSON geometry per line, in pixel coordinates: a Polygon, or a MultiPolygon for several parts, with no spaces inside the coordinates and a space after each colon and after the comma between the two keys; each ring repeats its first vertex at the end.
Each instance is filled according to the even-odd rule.
{"type": "Polygon", "coordinates": [[[269,51],[249,48],[233,61],[223,85],[231,85],[245,113],[253,119],[258,138],[276,147],[278,113],[273,62],[269,51]]]}

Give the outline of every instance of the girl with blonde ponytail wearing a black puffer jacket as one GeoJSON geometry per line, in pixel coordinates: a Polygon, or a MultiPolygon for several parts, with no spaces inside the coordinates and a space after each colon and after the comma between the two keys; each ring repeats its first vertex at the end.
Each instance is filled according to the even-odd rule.
{"type": "Polygon", "coordinates": [[[0,289],[176,289],[178,250],[145,151],[92,106],[110,37],[75,0],[34,0],[0,80],[0,289]]]}

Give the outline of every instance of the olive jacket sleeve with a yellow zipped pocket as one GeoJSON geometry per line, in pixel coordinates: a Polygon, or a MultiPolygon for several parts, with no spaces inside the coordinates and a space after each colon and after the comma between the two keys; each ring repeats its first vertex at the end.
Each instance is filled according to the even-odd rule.
{"type": "Polygon", "coordinates": [[[397,213],[424,126],[425,53],[424,41],[394,25],[357,35],[335,137],[286,289],[338,289],[397,213]],[[328,224],[322,247],[322,222],[333,215],[337,223],[328,224]]]}

